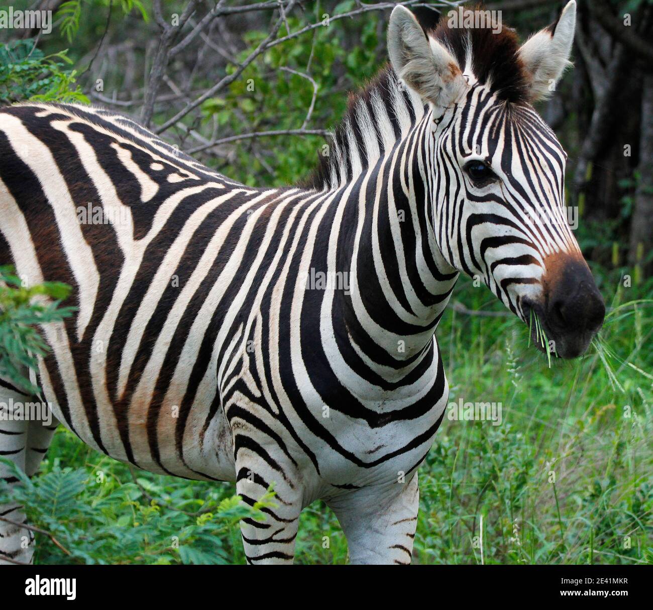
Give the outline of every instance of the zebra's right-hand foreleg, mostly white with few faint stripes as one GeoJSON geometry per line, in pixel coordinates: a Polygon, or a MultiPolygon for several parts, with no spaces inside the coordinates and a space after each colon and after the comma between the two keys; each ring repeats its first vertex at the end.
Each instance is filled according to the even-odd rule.
{"type": "Polygon", "coordinates": [[[327,502],[352,564],[409,564],[419,509],[417,472],[407,483],[363,487],[327,502]]]}

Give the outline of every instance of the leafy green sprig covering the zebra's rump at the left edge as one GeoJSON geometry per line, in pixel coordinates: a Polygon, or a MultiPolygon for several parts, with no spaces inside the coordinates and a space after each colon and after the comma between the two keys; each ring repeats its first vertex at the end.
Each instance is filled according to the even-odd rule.
{"type": "Polygon", "coordinates": [[[48,352],[48,345],[35,325],[59,322],[76,310],[60,308],[70,287],[58,281],[46,281],[25,287],[11,267],[0,267],[0,375],[18,387],[38,392],[24,376],[24,367],[36,369],[37,356],[48,352]],[[54,299],[54,301],[48,301],[54,299]]]}

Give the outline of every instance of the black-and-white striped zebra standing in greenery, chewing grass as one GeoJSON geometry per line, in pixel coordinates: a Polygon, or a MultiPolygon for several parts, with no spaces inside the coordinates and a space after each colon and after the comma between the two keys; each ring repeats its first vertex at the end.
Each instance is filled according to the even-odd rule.
{"type": "MultiPolygon", "coordinates": [[[[265,521],[241,523],[250,564],[293,562],[318,499],[351,563],[409,563],[459,274],[536,314],[559,357],[603,323],[565,218],[566,154],[532,106],[569,65],[575,15],[571,0],[520,46],[446,17],[424,31],[398,5],[389,65],[291,187],[239,184],[103,108],[3,108],[0,263],[65,281],[78,310],[42,328],[56,419],[0,421],[1,455],[34,474],[58,421],[138,468],[235,482],[249,506],[274,485],[265,521]],[[110,221],[80,222],[88,202],[110,221]]],[[[29,562],[22,507],[0,515],[4,560],[29,562]]]]}

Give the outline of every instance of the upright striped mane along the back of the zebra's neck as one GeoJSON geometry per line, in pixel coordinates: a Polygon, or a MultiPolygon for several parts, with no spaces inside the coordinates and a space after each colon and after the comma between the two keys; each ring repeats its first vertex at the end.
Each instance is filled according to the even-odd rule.
{"type": "Polygon", "coordinates": [[[302,185],[328,190],[354,180],[391,150],[424,116],[419,95],[400,86],[387,64],[358,93],[350,93],[340,125],[331,133],[317,169],[302,185]]]}

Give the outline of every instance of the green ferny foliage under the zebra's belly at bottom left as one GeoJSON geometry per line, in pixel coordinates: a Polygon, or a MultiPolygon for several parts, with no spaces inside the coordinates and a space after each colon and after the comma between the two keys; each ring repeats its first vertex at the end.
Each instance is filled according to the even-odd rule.
{"type": "Polygon", "coordinates": [[[274,490],[255,506],[215,483],[158,477],[80,447],[72,432],[57,434],[41,475],[27,478],[7,458],[20,483],[0,481],[0,506],[11,497],[27,507],[37,533],[39,564],[231,564],[244,561],[240,519],[264,521],[274,490]],[[61,463],[74,466],[61,467],[61,463]]]}

